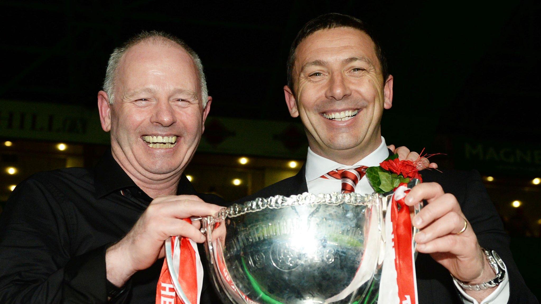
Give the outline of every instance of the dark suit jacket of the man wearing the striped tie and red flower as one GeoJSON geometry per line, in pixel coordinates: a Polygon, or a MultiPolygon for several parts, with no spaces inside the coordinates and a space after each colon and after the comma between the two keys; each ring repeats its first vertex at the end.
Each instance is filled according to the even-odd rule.
{"type": "MultiPolygon", "coordinates": [[[[509,303],[539,303],[518,272],[509,249],[509,236],[503,229],[502,221],[486,193],[478,171],[445,170],[440,173],[436,170],[424,170],[421,175],[423,182],[438,182],[445,193],[451,193],[457,197],[462,212],[477,235],[479,244],[496,250],[502,257],[507,267],[507,275],[509,275],[509,303]]],[[[303,166],[295,176],[272,184],[236,203],[250,201],[257,197],[290,196],[307,191],[303,166]]],[[[430,255],[419,253],[415,268],[419,303],[463,303],[447,269],[434,261],[430,255]]]]}

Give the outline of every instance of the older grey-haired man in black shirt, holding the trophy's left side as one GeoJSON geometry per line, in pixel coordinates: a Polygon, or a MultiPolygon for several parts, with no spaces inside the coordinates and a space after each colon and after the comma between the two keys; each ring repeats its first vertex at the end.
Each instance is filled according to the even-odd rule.
{"type": "MultiPolygon", "coordinates": [[[[153,303],[163,241],[202,242],[199,227],[182,219],[223,204],[183,175],[212,102],[186,43],[135,36],[111,55],[103,89],[98,108],[111,149],[95,169],[35,174],[6,204],[0,303],[153,303]]],[[[202,281],[200,303],[219,302],[202,281]]]]}

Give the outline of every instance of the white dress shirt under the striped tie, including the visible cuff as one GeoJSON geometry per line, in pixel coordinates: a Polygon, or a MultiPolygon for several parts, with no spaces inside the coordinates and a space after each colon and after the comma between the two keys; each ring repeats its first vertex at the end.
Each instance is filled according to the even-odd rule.
{"type": "MultiPolygon", "coordinates": [[[[308,155],[306,157],[306,183],[308,186],[308,192],[310,193],[332,193],[340,192],[342,188],[342,182],[340,180],[328,180],[322,179],[321,175],[328,173],[335,169],[351,169],[359,166],[374,167],[379,166],[379,163],[384,161],[389,156],[387,150],[387,144],[385,138],[381,137],[381,144],[372,153],[368,154],[362,160],[356,162],[352,166],[346,166],[318,154],[315,154],[310,148],[308,148],[308,155]]],[[[355,187],[355,192],[360,194],[370,194],[374,192],[366,176],[355,187]]],[[[496,275],[494,275],[496,276],[496,275]]],[[[498,287],[487,296],[481,303],[478,303],[471,296],[466,294],[457,283],[455,283],[457,290],[462,295],[462,300],[465,304],[506,304],[509,300],[509,276],[505,276],[505,280],[500,283],[498,287]]]]}

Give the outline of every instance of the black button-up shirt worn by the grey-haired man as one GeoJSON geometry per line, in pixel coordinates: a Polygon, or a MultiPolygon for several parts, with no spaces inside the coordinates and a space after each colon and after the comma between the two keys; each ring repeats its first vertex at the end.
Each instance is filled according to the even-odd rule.
{"type": "MultiPolygon", "coordinates": [[[[182,175],[177,194],[198,194],[182,175]]],[[[93,171],[65,168],[19,184],[0,217],[0,303],[107,303],[105,249],[151,198],[106,153],[93,171]],[[122,193],[121,194],[121,190],[122,193]]],[[[199,247],[203,265],[204,249],[199,247]]],[[[155,303],[163,259],[134,274],[115,303],[155,303]]],[[[219,302],[204,274],[201,303],[219,302]]]]}

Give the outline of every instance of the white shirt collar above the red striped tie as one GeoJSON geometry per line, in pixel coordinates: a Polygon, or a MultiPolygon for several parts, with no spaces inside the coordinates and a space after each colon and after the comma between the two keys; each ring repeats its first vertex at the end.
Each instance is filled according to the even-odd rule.
{"type": "Polygon", "coordinates": [[[379,163],[384,161],[388,156],[389,152],[383,136],[381,136],[381,144],[377,149],[352,166],[329,160],[328,158],[315,154],[308,148],[308,155],[306,156],[306,181],[309,182],[318,179],[321,175],[334,169],[348,169],[359,166],[379,166],[379,163]]]}

